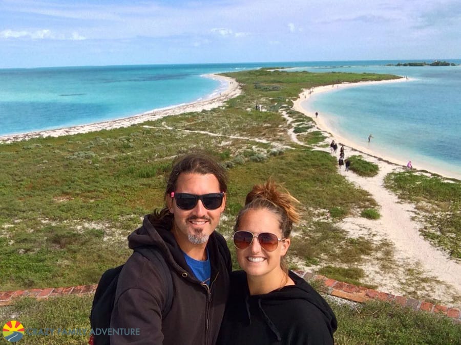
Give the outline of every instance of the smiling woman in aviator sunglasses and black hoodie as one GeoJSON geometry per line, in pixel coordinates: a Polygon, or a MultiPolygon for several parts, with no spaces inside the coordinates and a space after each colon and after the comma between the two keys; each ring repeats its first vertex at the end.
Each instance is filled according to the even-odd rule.
{"type": "Polygon", "coordinates": [[[333,311],[304,279],[286,269],[291,227],[299,221],[294,202],[272,181],[246,196],[233,235],[243,271],[231,275],[218,344],[333,343],[333,311]]]}

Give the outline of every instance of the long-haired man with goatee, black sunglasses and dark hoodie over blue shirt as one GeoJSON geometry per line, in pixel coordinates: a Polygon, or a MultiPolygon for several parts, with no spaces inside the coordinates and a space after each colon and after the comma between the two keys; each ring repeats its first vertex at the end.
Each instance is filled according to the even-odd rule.
{"type": "Polygon", "coordinates": [[[111,328],[138,328],[139,335],[111,335],[111,344],[214,344],[228,295],[231,255],[215,232],[224,212],[225,170],[193,153],[173,165],[163,209],[144,217],[130,248],[160,249],[171,271],[173,302],[162,315],[167,285],[152,264],[134,252],[117,285],[111,328]]]}

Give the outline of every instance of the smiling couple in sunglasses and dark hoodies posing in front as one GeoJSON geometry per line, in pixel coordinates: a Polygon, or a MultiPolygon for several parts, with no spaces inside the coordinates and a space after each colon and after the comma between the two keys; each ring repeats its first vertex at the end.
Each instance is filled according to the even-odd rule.
{"type": "Polygon", "coordinates": [[[226,201],[226,171],[214,158],[176,160],[164,206],[128,237],[135,251],[118,278],[110,327],[139,333],[112,334],[111,344],[333,344],[336,316],[285,262],[299,201],[272,180],[249,191],[232,235],[239,271],[215,231],[226,201]],[[160,265],[136,251],[146,246],[158,249],[171,273],[167,312],[160,265]]]}

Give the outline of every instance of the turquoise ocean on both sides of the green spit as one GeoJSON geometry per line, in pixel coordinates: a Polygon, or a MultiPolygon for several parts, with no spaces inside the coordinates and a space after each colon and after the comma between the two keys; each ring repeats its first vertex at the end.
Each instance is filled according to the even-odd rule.
{"type": "MultiPolygon", "coordinates": [[[[317,61],[0,70],[0,136],[114,120],[205,99],[225,85],[209,73],[287,67],[288,71],[387,73],[402,83],[335,89],[311,107],[334,132],[387,156],[461,174],[461,66],[389,66],[404,61],[317,61]]],[[[421,60],[432,62],[431,60],[421,60]]],[[[460,64],[461,60],[446,60],[460,64]]]]}

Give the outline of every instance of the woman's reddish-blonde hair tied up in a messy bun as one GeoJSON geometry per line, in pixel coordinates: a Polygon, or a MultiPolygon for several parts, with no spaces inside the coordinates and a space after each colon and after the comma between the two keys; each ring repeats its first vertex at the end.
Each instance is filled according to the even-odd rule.
{"type": "MultiPolygon", "coordinates": [[[[279,219],[282,238],[288,238],[294,223],[298,223],[300,216],[295,207],[299,203],[285,188],[269,179],[263,185],[255,185],[246,195],[245,205],[237,215],[234,232],[239,228],[242,216],[248,210],[268,210],[279,219]]],[[[281,266],[286,271],[285,260],[281,260],[281,266]]]]}

